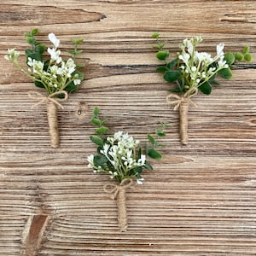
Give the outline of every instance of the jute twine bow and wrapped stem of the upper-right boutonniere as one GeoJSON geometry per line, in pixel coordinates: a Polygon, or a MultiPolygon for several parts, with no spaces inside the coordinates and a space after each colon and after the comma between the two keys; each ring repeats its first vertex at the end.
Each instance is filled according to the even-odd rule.
{"type": "Polygon", "coordinates": [[[174,110],[179,109],[179,117],[180,117],[180,139],[183,145],[188,144],[188,113],[189,113],[189,105],[193,107],[197,107],[195,102],[191,100],[192,96],[195,96],[198,93],[198,89],[196,87],[190,88],[186,91],[182,96],[178,96],[177,94],[170,93],[166,96],[166,102],[170,105],[175,105],[174,110]],[[173,100],[175,98],[176,100],[173,100]]]}

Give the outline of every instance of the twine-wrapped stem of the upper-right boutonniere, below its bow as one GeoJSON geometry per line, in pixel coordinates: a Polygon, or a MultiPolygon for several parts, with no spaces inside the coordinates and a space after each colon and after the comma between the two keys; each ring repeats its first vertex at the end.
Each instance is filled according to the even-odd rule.
{"type": "Polygon", "coordinates": [[[183,145],[188,144],[188,126],[189,126],[189,102],[181,102],[179,106],[179,133],[183,145]]]}

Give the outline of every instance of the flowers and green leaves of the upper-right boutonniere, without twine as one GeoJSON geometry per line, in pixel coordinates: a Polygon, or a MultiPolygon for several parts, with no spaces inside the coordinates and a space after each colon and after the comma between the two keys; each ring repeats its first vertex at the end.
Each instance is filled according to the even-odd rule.
{"type": "Polygon", "coordinates": [[[192,88],[198,88],[204,94],[211,94],[212,84],[219,84],[217,76],[223,79],[230,79],[235,61],[251,61],[252,56],[249,53],[249,47],[245,47],[242,52],[227,52],[224,54],[224,44],[218,44],[216,47],[217,55],[207,52],[198,52],[196,46],[201,43],[201,37],[184,39],[179,44],[180,51],[174,59],[170,60],[169,50],[164,49],[166,42],[161,42],[160,34],[155,32],[152,38],[156,39],[157,50],[156,58],[164,61],[164,65],[157,67],[156,71],[163,73],[167,82],[175,83],[177,86],[172,92],[185,93],[192,88]]]}

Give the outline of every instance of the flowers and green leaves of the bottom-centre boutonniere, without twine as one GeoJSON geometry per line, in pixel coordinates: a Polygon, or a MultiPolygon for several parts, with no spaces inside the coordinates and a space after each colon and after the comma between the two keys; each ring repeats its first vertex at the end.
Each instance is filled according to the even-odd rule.
{"type": "Polygon", "coordinates": [[[148,134],[149,143],[143,148],[139,140],[123,131],[117,131],[113,137],[108,137],[106,120],[102,120],[99,113],[99,108],[94,108],[90,119],[90,123],[96,126],[96,135],[91,136],[90,140],[96,144],[97,154],[88,156],[88,166],[94,172],[108,173],[119,183],[127,178],[137,178],[137,183],[143,183],[143,169],[153,170],[147,156],[154,160],[162,159],[162,154],[156,148],[161,146],[159,139],[166,136],[164,129],[168,125],[161,123],[154,135],[148,134]]]}

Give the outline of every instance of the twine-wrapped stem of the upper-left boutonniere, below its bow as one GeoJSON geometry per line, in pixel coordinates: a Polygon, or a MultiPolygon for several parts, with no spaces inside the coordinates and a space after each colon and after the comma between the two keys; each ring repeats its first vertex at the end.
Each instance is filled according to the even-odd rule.
{"type": "Polygon", "coordinates": [[[50,146],[52,148],[58,148],[60,143],[58,127],[58,106],[55,104],[55,102],[51,101],[48,101],[46,106],[49,125],[50,146]]]}

